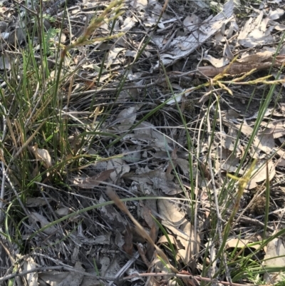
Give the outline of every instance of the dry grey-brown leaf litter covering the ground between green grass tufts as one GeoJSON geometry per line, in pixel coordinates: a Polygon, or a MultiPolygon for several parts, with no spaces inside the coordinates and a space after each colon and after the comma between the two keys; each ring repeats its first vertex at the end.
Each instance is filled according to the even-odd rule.
{"type": "MultiPolygon", "coordinates": [[[[52,1],[49,2],[49,6],[44,8],[45,13],[62,19],[62,7],[53,9],[52,1]]],[[[244,191],[240,211],[242,213],[243,205],[247,209],[247,205],[252,203],[250,214],[246,212],[245,215],[249,216],[248,221],[259,218],[256,212],[260,208],[255,205],[261,205],[261,210],[264,210],[264,199],[260,195],[257,196],[258,200],[254,198],[255,194],[264,192],[264,184],[268,179],[273,200],[270,206],[270,225],[281,220],[281,209],[285,206],[284,190],[281,188],[285,165],[284,91],[276,89],[274,96],[279,98],[278,105],[274,109],[271,109],[271,106],[266,108],[259,131],[255,133],[249,147],[248,160],[243,160],[243,155],[255,132],[254,124],[257,123],[258,106],[261,102],[259,93],[266,88],[261,83],[254,82],[257,76],[251,71],[255,68],[260,76],[265,76],[264,70],[271,67],[278,69],[284,64],[283,49],[278,55],[274,54],[278,51],[280,32],[284,31],[284,10],[274,6],[276,1],[267,1],[260,6],[249,4],[249,7],[244,8],[234,1],[227,1],[224,6],[211,2],[212,8],[218,9],[214,14],[207,1],[192,2],[192,6],[187,6],[180,1],[173,1],[168,4],[167,9],[158,1],[138,0],[125,3],[125,13],[114,26],[115,32],[124,32],[123,36],[108,44],[96,42],[81,51],[74,51],[68,65],[71,71],[76,71],[73,83],[68,79],[68,83],[72,83],[73,92],[68,95],[64,88],[61,91],[63,101],[68,100],[68,108],[77,112],[76,116],[68,118],[68,121],[80,123],[76,128],[71,127],[71,134],[74,136],[79,130],[79,133],[86,131],[86,126],[97,132],[96,140],[81,148],[89,155],[100,154],[101,158],[98,160],[105,164],[99,166],[97,162],[83,158],[82,167],[68,175],[67,182],[71,183],[68,188],[58,189],[49,182],[39,182],[41,192],[36,194],[36,198],[28,198],[26,201],[29,218],[23,223],[21,236],[26,240],[29,255],[23,269],[34,270],[37,265],[50,266],[68,262],[68,265],[75,265],[80,272],[66,272],[64,277],[56,276],[63,273],[52,270],[31,272],[32,275],[23,277],[27,285],[46,285],[44,283],[51,284],[51,281],[54,285],[99,285],[95,275],[117,278],[129,275],[130,279],[125,285],[133,285],[133,273],[139,275],[147,271],[167,272],[169,269],[177,272],[170,262],[172,260],[179,263],[178,270],[185,267],[187,273],[199,276],[202,269],[200,258],[213,259],[203,256],[202,250],[211,242],[208,233],[211,231],[210,223],[214,210],[214,185],[228,183],[227,173],[244,175],[251,158],[257,159],[257,165],[244,191]],[[239,9],[247,16],[241,18],[237,12],[239,9]],[[157,29],[154,30],[156,24],[157,29]],[[150,31],[150,41],[142,53],[139,53],[142,45],[146,43],[145,36],[150,31]],[[98,58],[103,58],[104,54],[106,60],[101,66],[102,60],[98,61],[98,58]],[[235,58],[236,55],[239,55],[239,58],[235,58]],[[140,58],[135,62],[137,56],[140,58]],[[133,64],[128,65],[129,63],[133,64]],[[170,93],[170,86],[161,78],[162,65],[166,66],[171,86],[177,93],[170,93]],[[227,77],[215,78],[220,73],[227,77]],[[244,73],[248,73],[248,81],[252,81],[254,87],[249,83],[247,86],[242,85],[244,73]],[[125,89],[118,92],[116,88],[124,77],[125,89]],[[196,91],[196,79],[202,83],[209,81],[210,84],[196,91]],[[217,86],[213,86],[214,83],[217,83],[217,86]],[[254,88],[257,88],[256,93],[254,88]],[[254,96],[251,98],[252,93],[254,96]],[[112,112],[101,127],[98,121],[104,114],[94,111],[95,118],[90,118],[84,113],[86,107],[90,106],[93,94],[96,96],[94,106],[104,106],[105,110],[113,106],[112,112]],[[114,94],[116,98],[113,97],[114,94]],[[222,116],[217,119],[219,128],[215,126],[211,144],[200,129],[201,126],[207,125],[205,119],[208,122],[214,120],[211,114],[205,117],[205,103],[209,101],[209,94],[222,98],[219,105],[216,101],[212,106],[220,108],[222,116]],[[204,103],[201,98],[206,98],[204,103]],[[187,144],[184,131],[186,126],[178,116],[177,103],[181,106],[187,103],[183,116],[196,149],[191,149],[187,144]],[[158,105],[162,105],[162,108],[154,111],[158,105]],[[145,118],[144,114],[150,111],[154,112],[145,118]],[[110,143],[115,141],[114,135],[120,139],[112,145],[110,143]],[[216,182],[212,182],[207,156],[214,162],[216,182]],[[137,223],[142,228],[140,229],[133,219],[121,212],[119,205],[104,205],[108,203],[106,185],[113,186],[120,198],[140,195],[164,198],[145,200],[143,203],[136,200],[125,202],[125,208],[137,218],[137,223]],[[189,190],[195,193],[195,197],[191,198],[195,208],[199,208],[197,213],[193,213],[185,203],[185,199],[189,200],[192,195],[187,194],[189,190]],[[173,201],[172,198],[182,200],[173,201]],[[58,218],[64,218],[65,215],[83,208],[91,208],[95,204],[100,204],[100,207],[53,225],[53,221],[58,218]],[[154,223],[153,217],[160,221],[166,234],[154,223]],[[46,229],[31,238],[31,234],[40,228],[46,229]],[[148,260],[148,263],[145,263],[147,267],[138,260],[137,243],[142,243],[140,257],[145,255],[148,260]],[[169,250],[170,243],[175,249],[174,257],[169,250]],[[39,251],[41,248],[44,253],[39,251]],[[34,250],[31,251],[32,249],[34,250]],[[155,251],[165,257],[165,264],[153,255],[155,251]],[[94,270],[94,262],[100,275],[94,270]],[[83,278],[85,270],[81,263],[87,267],[88,273],[93,273],[92,279],[83,278]]],[[[35,1],[30,8],[34,9],[37,5],[35,1]]],[[[50,41],[51,37],[46,38],[51,43],[51,51],[56,49],[60,42],[64,44],[76,39],[83,33],[84,23],[98,15],[98,11],[102,11],[106,6],[108,2],[68,3],[67,11],[71,21],[64,22],[68,32],[61,39],[57,34],[53,35],[56,41],[50,41]],[[68,26],[69,24],[71,26],[68,26]]],[[[1,71],[11,70],[11,63],[14,61],[11,56],[19,57],[20,50],[17,48],[19,44],[23,45],[25,34],[31,29],[21,25],[21,17],[24,17],[24,14],[29,17],[31,15],[24,9],[18,17],[12,18],[11,15],[15,11],[16,6],[9,1],[4,2],[1,7],[1,38],[6,41],[4,48],[10,45],[15,48],[7,49],[3,54],[0,61],[1,71]]],[[[46,25],[53,26],[53,23],[46,25]]],[[[110,26],[107,24],[98,29],[98,33],[103,36],[107,36],[109,31],[110,26]]],[[[51,53],[48,59],[54,63],[55,55],[51,53]]],[[[274,73],[276,77],[276,72],[272,72],[274,73]]],[[[4,84],[1,82],[1,86],[5,88],[4,84]]],[[[74,146],[77,150],[76,143],[74,146]]],[[[32,153],[31,160],[36,158],[38,164],[33,170],[35,175],[38,175],[42,166],[46,170],[53,168],[55,158],[47,148],[31,145],[29,150],[32,153]]],[[[20,184],[17,185],[18,188],[19,186],[20,184]]],[[[235,195],[227,194],[225,200],[233,204],[235,195]]],[[[230,209],[231,205],[227,208],[230,209]]],[[[257,225],[249,226],[239,222],[234,225],[225,249],[228,251],[233,248],[247,248],[246,245],[257,240],[253,239],[253,236],[247,238],[248,235],[238,238],[239,235],[254,235],[263,231],[263,228],[257,225]]],[[[15,247],[18,251],[19,246],[15,247]]],[[[260,252],[259,247],[254,250],[260,252]]],[[[262,257],[261,253],[259,259],[264,259],[271,266],[285,266],[284,261],[277,257],[284,252],[279,238],[269,242],[264,251],[266,255],[262,257]],[[266,260],[269,257],[271,259],[266,260]]],[[[19,261],[21,259],[19,258],[19,261]]],[[[147,262],[146,260],[143,261],[147,262]]],[[[8,268],[1,270],[1,276],[8,272],[8,268]]],[[[220,281],[225,279],[224,273],[219,272],[218,276],[220,281]]],[[[169,280],[166,276],[164,278],[169,280]]],[[[264,276],[264,280],[269,282],[276,282],[278,278],[280,277],[276,273],[264,276]]],[[[145,283],[144,278],[140,278],[140,282],[145,283]]],[[[162,277],[151,277],[149,285],[159,285],[162,282],[162,277]]],[[[168,282],[171,285],[172,280],[168,282]]],[[[105,280],[100,283],[112,284],[105,280]]],[[[118,284],[113,282],[113,285],[118,284]]]]}

